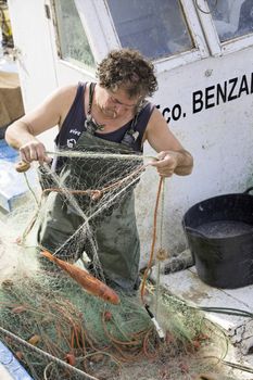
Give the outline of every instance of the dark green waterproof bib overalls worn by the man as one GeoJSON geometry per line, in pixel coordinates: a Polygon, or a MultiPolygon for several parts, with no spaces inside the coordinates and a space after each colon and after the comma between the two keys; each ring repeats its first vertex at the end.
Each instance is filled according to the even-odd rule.
{"type": "MultiPolygon", "coordinates": [[[[135,153],[131,147],[101,139],[88,130],[81,132],[74,149],[84,152],[104,152],[105,150],[114,153],[135,153]]],[[[97,160],[97,163],[92,161],[91,165],[90,160],[67,159],[60,172],[60,187],[67,186],[68,189],[87,190],[97,189],[98,183],[100,188],[106,186],[110,182],[110,159],[101,156],[93,160],[97,160]],[[102,179],[103,174],[104,180],[102,179]]],[[[124,164],[122,161],[118,163],[117,170],[121,174],[124,164]]],[[[138,159],[138,165],[140,164],[141,159],[138,159]]],[[[115,168],[113,170],[115,172],[115,168]]],[[[114,173],[115,180],[117,179],[114,173]]],[[[89,216],[90,198],[77,195],[76,200],[84,213],[89,216]]],[[[94,220],[90,219],[93,235],[91,240],[89,231],[87,231],[87,224],[85,230],[80,228],[85,221],[84,217],[62,193],[50,192],[46,202],[46,213],[38,230],[38,241],[42,246],[52,253],[56,252],[56,256],[63,259],[73,257],[77,259],[84,251],[92,259],[91,242],[96,241],[98,257],[107,283],[125,291],[131,291],[138,287],[140,246],[132,186],[125,191],[123,198],[115,199],[116,206],[115,204],[110,205],[109,210],[98,213],[94,220]],[[72,238],[72,236],[74,237],[72,238]],[[64,244],[66,241],[67,243],[64,244]]]]}

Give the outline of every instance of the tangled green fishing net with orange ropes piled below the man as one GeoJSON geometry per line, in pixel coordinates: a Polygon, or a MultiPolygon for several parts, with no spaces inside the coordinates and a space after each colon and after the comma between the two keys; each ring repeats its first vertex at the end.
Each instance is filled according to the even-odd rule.
{"type": "Polygon", "coordinates": [[[121,294],[121,301],[105,304],[64,275],[38,271],[5,280],[1,340],[34,379],[81,379],[85,373],[97,379],[187,379],[212,367],[198,358],[206,345],[210,354],[214,341],[203,316],[175,297],[164,299],[163,342],[138,299],[121,294]]]}

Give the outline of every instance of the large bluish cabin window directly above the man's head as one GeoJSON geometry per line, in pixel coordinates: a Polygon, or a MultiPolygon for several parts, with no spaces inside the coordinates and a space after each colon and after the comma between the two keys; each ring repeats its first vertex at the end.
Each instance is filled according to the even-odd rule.
{"type": "Polygon", "coordinates": [[[123,48],[160,59],[194,48],[178,0],[106,0],[123,48]]]}

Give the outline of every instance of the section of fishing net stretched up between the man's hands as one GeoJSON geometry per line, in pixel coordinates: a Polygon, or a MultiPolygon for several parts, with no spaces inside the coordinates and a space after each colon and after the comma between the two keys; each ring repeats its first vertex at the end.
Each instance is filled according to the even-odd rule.
{"type": "MultiPolygon", "coordinates": [[[[76,261],[85,251],[98,269],[100,263],[94,229],[121,206],[124,199],[131,197],[131,190],[146,166],[140,155],[127,154],[127,151],[125,154],[116,154],[110,150],[101,154],[96,153],[97,149],[99,148],[93,147],[92,152],[86,152],[85,157],[78,151],[58,152],[58,165],[65,164],[60,176],[47,165],[39,169],[42,194],[33,221],[45,218],[47,198],[51,197],[56,206],[60,202],[63,208],[67,208],[68,218],[72,218],[71,223],[76,228],[73,229],[71,224],[61,226],[65,230],[67,238],[61,239],[61,243],[54,243],[54,254],[76,261]]],[[[24,237],[31,226],[28,226],[24,237]]]]}

